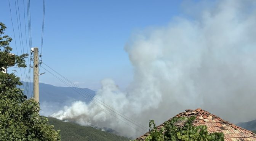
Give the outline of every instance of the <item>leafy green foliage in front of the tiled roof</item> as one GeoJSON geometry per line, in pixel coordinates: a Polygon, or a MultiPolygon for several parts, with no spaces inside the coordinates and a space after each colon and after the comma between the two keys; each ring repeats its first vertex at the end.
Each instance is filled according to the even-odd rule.
{"type": "Polygon", "coordinates": [[[223,133],[208,133],[205,125],[194,126],[195,117],[174,117],[166,121],[159,130],[155,127],[154,120],[150,120],[150,134],[146,141],[224,141],[223,133]],[[184,126],[175,123],[186,121],[184,126]]]}

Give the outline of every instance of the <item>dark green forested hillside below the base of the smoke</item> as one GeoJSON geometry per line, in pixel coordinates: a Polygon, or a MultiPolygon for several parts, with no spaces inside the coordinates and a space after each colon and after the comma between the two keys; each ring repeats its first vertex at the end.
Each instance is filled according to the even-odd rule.
{"type": "Polygon", "coordinates": [[[60,121],[48,117],[55,130],[61,130],[61,141],[129,141],[128,138],[107,133],[93,127],[60,121]]]}

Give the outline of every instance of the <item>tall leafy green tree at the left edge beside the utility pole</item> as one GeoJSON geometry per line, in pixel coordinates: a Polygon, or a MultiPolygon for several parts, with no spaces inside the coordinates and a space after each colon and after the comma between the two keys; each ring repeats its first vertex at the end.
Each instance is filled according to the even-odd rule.
{"type": "MultiPolygon", "coordinates": [[[[0,22],[0,71],[10,66],[11,38],[5,35],[6,27],[0,22]]],[[[14,65],[26,67],[27,54],[15,55],[14,65]]],[[[48,119],[39,115],[39,103],[27,99],[19,77],[14,73],[0,72],[0,140],[1,141],[58,141],[59,131],[48,124],[48,119]]]]}

